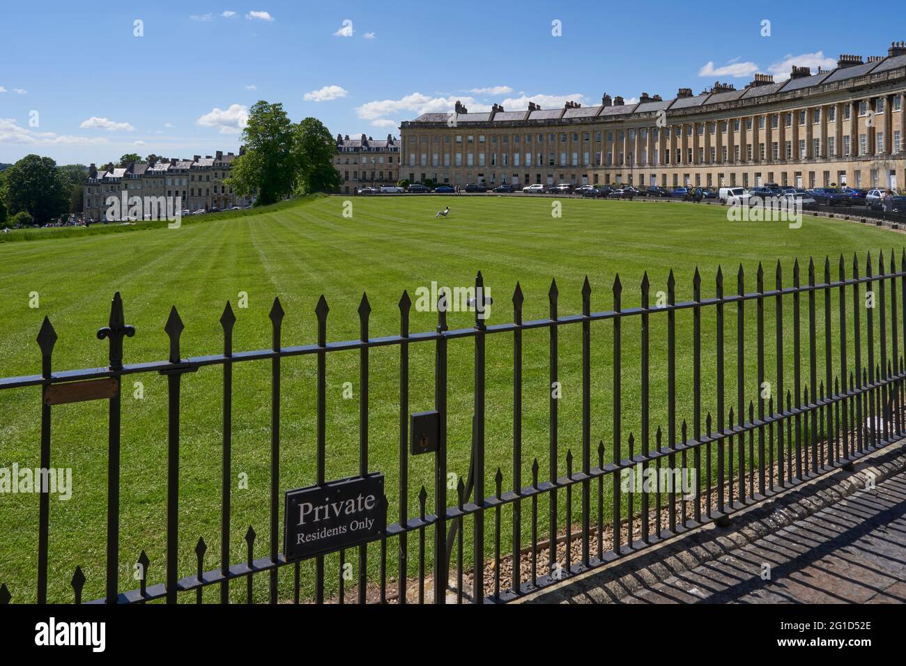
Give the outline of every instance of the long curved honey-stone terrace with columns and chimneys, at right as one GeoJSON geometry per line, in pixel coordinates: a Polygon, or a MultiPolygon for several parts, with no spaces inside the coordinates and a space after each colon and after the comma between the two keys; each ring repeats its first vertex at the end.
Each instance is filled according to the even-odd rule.
{"type": "Polygon", "coordinates": [[[673,99],[425,113],[400,127],[400,179],[449,185],[627,183],[814,188],[906,184],[906,43],[789,78],[756,74],[673,99]]]}

